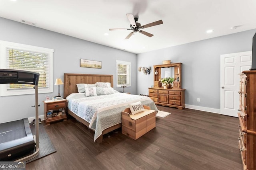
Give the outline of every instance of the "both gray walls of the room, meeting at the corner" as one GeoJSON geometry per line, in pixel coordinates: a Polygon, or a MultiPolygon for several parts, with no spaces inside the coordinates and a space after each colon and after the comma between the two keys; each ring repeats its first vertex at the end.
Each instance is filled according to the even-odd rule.
{"type": "MultiPolygon", "coordinates": [[[[182,64],[182,88],[185,88],[185,104],[188,106],[220,109],[220,55],[252,50],[252,37],[256,29],[169,47],[142,54],[132,54],[98,45],[60,33],[0,18],[0,40],[54,49],[53,81],[64,80],[64,73],[113,74],[116,88],[116,60],[132,63],[132,87],[126,92],[148,94],[153,85],[153,72],[143,75],[138,67],[162,64],[164,60],[182,64]],[[80,59],[102,61],[102,69],[80,67],[80,59]],[[200,98],[201,102],[196,99],[200,98]]],[[[60,86],[63,95],[63,86],[60,86]]],[[[43,115],[46,95],[58,94],[54,86],[51,94],[39,94],[39,115],[43,115]]],[[[34,95],[0,97],[0,123],[24,117],[34,117],[34,95]]]]}

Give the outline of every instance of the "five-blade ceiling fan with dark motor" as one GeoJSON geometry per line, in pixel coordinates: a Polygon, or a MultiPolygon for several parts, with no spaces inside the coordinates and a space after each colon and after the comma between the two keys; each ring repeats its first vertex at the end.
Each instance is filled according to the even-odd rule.
{"type": "Polygon", "coordinates": [[[127,35],[127,37],[125,39],[129,39],[132,34],[136,33],[136,32],[139,32],[139,33],[142,33],[148,37],[152,37],[153,34],[151,33],[148,33],[146,31],[142,31],[142,29],[144,28],[147,28],[147,27],[152,27],[152,26],[155,26],[155,25],[160,25],[163,23],[162,20],[159,20],[159,21],[155,21],[155,22],[152,22],[152,23],[148,23],[146,25],[142,25],[140,23],[138,23],[138,17],[134,17],[133,14],[126,14],[128,20],[130,21],[130,28],[110,28],[109,30],[110,31],[113,31],[113,30],[132,30],[131,33],[129,33],[129,35],[127,35]]]}

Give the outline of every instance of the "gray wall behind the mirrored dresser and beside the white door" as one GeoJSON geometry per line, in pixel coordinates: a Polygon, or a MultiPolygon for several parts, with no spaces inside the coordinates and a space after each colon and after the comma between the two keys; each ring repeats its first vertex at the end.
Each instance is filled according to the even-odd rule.
{"type": "MultiPolygon", "coordinates": [[[[220,55],[252,51],[255,32],[252,29],[138,54],[137,67],[162,64],[164,60],[182,63],[185,104],[220,109],[220,55]]],[[[150,75],[137,75],[137,93],[148,94],[148,87],[153,85],[153,70],[150,75]]]]}

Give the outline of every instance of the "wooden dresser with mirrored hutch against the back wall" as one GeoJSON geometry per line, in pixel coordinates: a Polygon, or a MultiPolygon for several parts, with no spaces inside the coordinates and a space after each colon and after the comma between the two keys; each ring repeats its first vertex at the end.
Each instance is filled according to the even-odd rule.
{"type": "Polygon", "coordinates": [[[148,88],[149,97],[156,105],[185,107],[184,91],[182,89],[182,63],[154,65],[154,87],[148,88]],[[173,77],[174,82],[170,88],[165,89],[160,82],[161,78],[173,77]]]}

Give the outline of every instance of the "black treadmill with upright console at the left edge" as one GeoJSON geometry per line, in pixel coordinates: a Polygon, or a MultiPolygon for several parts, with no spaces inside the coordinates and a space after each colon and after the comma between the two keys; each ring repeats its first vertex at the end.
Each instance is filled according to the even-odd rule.
{"type": "Polygon", "coordinates": [[[39,73],[0,69],[0,84],[32,84],[36,100],[36,134],[28,118],[0,123],[0,161],[28,161],[39,154],[38,81],[39,73]],[[35,138],[35,139],[34,139],[35,138]]]}

